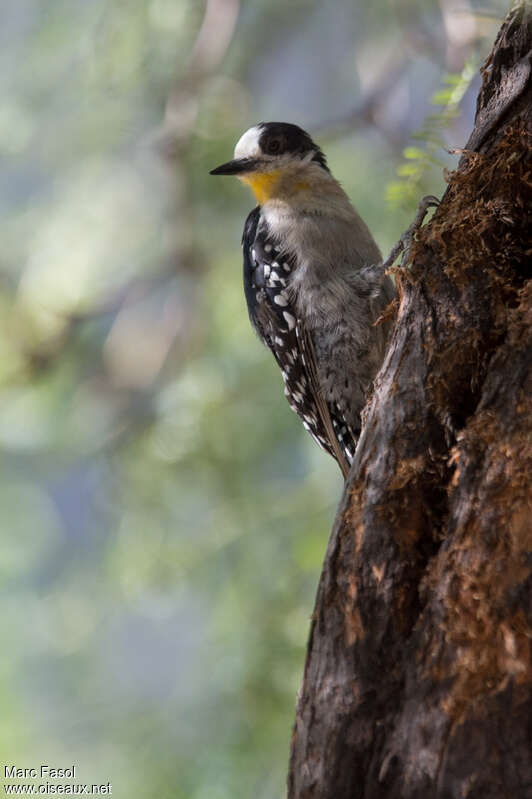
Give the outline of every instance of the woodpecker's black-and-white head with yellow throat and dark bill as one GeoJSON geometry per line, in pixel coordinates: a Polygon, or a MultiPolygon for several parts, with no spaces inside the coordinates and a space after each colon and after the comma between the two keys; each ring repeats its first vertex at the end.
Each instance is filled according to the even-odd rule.
{"type": "Polygon", "coordinates": [[[281,186],[284,191],[304,190],[305,173],[316,168],[329,174],[325,156],[302,128],[288,122],[260,122],[240,137],[233,160],[210,174],[236,175],[263,205],[281,186]]]}

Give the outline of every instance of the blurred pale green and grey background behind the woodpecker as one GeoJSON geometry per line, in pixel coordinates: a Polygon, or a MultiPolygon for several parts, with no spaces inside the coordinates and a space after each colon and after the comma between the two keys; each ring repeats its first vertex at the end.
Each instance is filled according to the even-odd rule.
{"type": "Polygon", "coordinates": [[[251,332],[260,120],[383,251],[463,146],[498,0],[3,0],[0,765],[277,799],[340,473],[251,332]]]}

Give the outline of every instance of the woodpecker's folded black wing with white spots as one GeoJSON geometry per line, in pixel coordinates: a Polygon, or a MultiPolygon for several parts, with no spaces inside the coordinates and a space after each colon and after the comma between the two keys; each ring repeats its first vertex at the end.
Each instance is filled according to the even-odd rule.
{"type": "Polygon", "coordinates": [[[312,337],[290,298],[294,262],[280,254],[259,208],[246,221],[242,243],[244,288],[253,327],[279,364],[291,408],[320,447],[338,461],[345,476],[355,440],[339,409],[330,408],[322,396],[312,337]]]}

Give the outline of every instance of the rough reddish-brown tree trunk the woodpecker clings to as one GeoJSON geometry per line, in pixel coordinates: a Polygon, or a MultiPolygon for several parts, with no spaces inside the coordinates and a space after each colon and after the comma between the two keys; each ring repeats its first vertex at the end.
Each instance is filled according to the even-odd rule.
{"type": "Polygon", "coordinates": [[[532,9],[407,270],[318,589],[290,799],[532,797],[532,9]]]}

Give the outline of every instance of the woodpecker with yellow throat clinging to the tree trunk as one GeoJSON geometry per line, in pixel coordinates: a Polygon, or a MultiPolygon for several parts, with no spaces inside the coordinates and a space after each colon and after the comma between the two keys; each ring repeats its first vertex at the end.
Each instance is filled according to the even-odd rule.
{"type": "Polygon", "coordinates": [[[390,323],[375,323],[395,293],[379,248],[297,125],[253,126],[210,174],[236,175],[255,195],[242,236],[249,317],[290,406],[345,477],[385,353],[390,323]]]}

